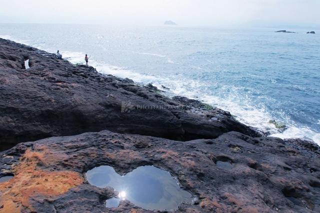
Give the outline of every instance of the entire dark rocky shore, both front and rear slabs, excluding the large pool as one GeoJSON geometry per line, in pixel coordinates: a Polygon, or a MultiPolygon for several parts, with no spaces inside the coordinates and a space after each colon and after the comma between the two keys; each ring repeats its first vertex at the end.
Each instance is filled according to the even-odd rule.
{"type": "Polygon", "coordinates": [[[86,172],[155,166],[196,199],[175,212],[319,212],[320,149],[221,109],[0,39],[0,212],[152,212],[86,172]],[[24,61],[28,60],[26,69],[24,61]]]}

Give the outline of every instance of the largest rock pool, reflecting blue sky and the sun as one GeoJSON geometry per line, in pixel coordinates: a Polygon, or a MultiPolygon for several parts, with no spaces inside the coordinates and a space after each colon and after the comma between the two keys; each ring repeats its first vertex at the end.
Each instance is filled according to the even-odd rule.
{"type": "Polygon", "coordinates": [[[97,187],[112,187],[118,191],[117,198],[106,200],[107,207],[117,207],[121,199],[149,210],[172,210],[180,203],[192,203],[189,192],[181,189],[169,172],[154,166],[140,166],[119,175],[106,165],[86,172],[88,182],[97,187]]]}

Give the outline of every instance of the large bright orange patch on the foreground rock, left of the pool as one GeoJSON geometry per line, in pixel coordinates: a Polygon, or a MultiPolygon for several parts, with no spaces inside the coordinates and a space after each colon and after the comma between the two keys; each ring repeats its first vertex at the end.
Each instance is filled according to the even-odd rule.
{"type": "Polygon", "coordinates": [[[74,171],[45,171],[45,152],[26,150],[20,162],[13,168],[15,174],[7,182],[0,183],[0,212],[32,210],[29,199],[35,195],[53,198],[83,182],[81,174],[74,171]]]}

